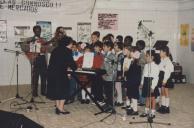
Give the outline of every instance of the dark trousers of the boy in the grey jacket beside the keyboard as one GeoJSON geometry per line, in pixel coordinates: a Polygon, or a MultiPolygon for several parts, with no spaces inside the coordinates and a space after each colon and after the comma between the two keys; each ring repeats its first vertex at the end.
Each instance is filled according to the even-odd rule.
{"type": "Polygon", "coordinates": [[[113,82],[104,81],[104,94],[105,94],[105,103],[113,106],[113,82]]]}

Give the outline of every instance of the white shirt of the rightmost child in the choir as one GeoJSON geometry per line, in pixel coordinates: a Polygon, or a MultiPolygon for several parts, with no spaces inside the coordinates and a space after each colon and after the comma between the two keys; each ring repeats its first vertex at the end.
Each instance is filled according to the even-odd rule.
{"type": "Polygon", "coordinates": [[[174,66],[172,64],[172,61],[169,59],[169,57],[166,57],[164,59],[161,59],[159,66],[160,66],[160,70],[164,71],[163,82],[166,83],[167,80],[170,78],[171,73],[174,72],[174,66]]]}

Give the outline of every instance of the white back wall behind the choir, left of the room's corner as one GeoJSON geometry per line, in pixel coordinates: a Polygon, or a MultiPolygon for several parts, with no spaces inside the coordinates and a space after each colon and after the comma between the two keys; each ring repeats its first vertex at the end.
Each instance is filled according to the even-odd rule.
{"type": "MultiPolygon", "coordinates": [[[[8,42],[1,43],[0,47],[0,85],[9,85],[11,79],[11,72],[14,66],[14,57],[12,53],[4,52],[4,48],[15,49],[14,42],[14,26],[26,25],[34,26],[36,21],[51,21],[53,32],[57,26],[72,27],[72,37],[77,38],[77,22],[91,22],[92,31],[98,30],[98,13],[116,13],[118,14],[118,30],[117,31],[103,31],[101,35],[113,33],[115,35],[121,34],[123,36],[130,34],[136,41],[137,38],[137,25],[140,20],[153,20],[154,23],[143,23],[150,30],[154,32],[154,40],[158,39],[169,40],[169,46],[176,60],[176,47],[177,43],[177,4],[175,2],[127,2],[118,3],[113,0],[110,1],[99,0],[97,2],[93,17],[90,19],[90,11],[79,14],[69,15],[60,11],[60,13],[46,12],[46,13],[24,13],[12,12],[1,10],[0,19],[7,20],[8,27],[8,42]],[[106,3],[108,2],[108,3],[106,3]]],[[[31,36],[32,33],[29,35],[31,36]]],[[[16,49],[17,50],[17,49],[16,49]]],[[[18,49],[19,50],[19,49],[18,49]]],[[[12,84],[16,83],[16,73],[12,84]]],[[[25,56],[19,56],[19,84],[30,83],[30,64],[25,56]]]]}

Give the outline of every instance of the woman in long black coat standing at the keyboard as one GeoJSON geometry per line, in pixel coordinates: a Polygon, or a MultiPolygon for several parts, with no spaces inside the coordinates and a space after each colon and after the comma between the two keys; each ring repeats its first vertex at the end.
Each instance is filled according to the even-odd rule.
{"type": "Polygon", "coordinates": [[[52,51],[48,66],[47,97],[56,101],[56,114],[69,114],[64,111],[64,101],[68,97],[69,79],[67,69],[76,70],[72,56],[72,39],[63,37],[52,51]]]}

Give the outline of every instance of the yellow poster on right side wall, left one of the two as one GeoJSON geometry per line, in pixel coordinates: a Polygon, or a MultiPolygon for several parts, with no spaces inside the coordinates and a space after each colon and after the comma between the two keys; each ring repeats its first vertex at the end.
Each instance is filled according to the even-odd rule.
{"type": "Polygon", "coordinates": [[[181,24],[180,26],[180,45],[188,46],[189,44],[189,24],[181,24]]]}

